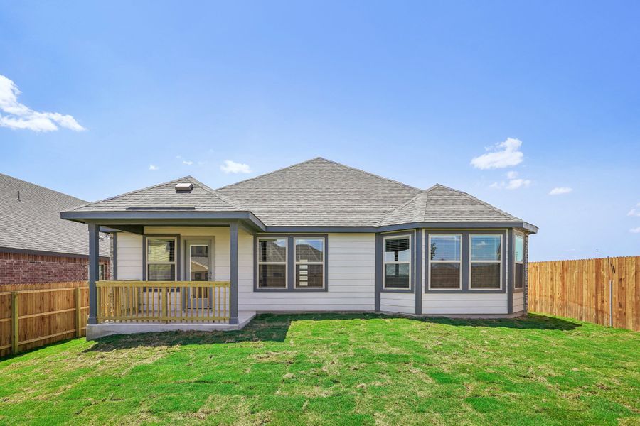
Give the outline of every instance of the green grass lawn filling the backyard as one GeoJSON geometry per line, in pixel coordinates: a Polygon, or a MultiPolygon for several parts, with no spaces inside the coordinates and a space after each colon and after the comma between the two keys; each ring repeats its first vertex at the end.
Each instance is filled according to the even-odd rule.
{"type": "Polygon", "coordinates": [[[640,425],[640,334],[557,317],[262,315],[0,360],[0,424],[640,425]]]}

